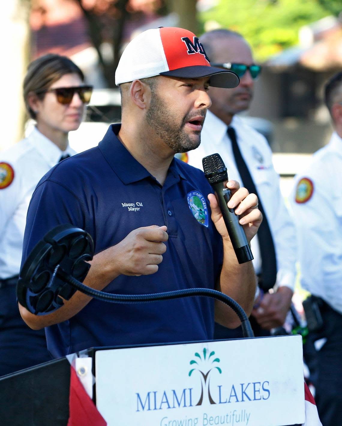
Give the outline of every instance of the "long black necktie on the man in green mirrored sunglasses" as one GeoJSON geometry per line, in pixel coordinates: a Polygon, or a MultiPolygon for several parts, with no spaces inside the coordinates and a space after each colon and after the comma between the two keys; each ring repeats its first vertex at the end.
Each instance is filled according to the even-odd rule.
{"type": "MultiPolygon", "coordinates": [[[[236,141],[236,133],[233,127],[228,127],[227,130],[228,136],[232,141],[233,154],[236,162],[236,166],[239,170],[239,174],[241,176],[244,187],[250,193],[256,194],[259,199],[259,210],[262,212],[263,220],[262,224],[258,230],[258,239],[260,246],[260,255],[262,261],[262,274],[261,274],[261,282],[260,287],[267,291],[273,287],[276,283],[277,278],[277,262],[276,262],[276,251],[274,249],[274,243],[272,234],[270,231],[270,226],[267,222],[267,216],[265,215],[264,208],[262,207],[262,202],[260,200],[258,191],[256,190],[256,186],[253,182],[252,176],[250,176],[250,172],[244,159],[239,150],[239,145],[236,141]]],[[[229,176],[229,173],[228,173],[229,176]]]]}

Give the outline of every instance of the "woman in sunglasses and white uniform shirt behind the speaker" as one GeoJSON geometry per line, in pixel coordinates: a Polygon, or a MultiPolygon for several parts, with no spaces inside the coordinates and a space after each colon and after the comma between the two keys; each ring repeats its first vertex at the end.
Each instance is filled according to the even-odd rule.
{"type": "Polygon", "coordinates": [[[91,86],[65,56],[48,54],[29,64],[23,83],[26,109],[36,125],[29,136],[0,154],[0,376],[50,360],[43,330],[26,326],[17,308],[26,213],[40,178],[75,151],[77,130],[91,86]]]}

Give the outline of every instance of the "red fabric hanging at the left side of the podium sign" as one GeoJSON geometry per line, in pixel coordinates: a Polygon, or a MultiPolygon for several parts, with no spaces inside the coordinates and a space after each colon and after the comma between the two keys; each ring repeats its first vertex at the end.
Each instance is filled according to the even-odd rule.
{"type": "Polygon", "coordinates": [[[70,366],[70,396],[68,426],[106,426],[92,399],[78,379],[75,368],[70,366]]]}

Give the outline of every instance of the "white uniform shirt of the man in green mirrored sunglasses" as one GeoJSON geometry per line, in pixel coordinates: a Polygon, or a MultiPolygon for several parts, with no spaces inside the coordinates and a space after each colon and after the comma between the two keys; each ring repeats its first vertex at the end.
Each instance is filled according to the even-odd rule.
{"type": "MultiPolygon", "coordinates": [[[[259,192],[270,225],[278,269],[276,286],[285,285],[293,290],[296,273],[296,237],[293,222],[280,192],[279,175],[273,167],[272,151],[264,136],[244,124],[239,117],[234,115],[230,125],[236,131],[239,149],[259,192]]],[[[227,167],[228,178],[238,181],[242,186],[227,128],[223,121],[208,111],[201,132],[201,144],[196,150],[187,153],[188,163],[203,170],[202,158],[218,153],[227,167]]],[[[251,241],[251,250],[255,271],[259,273],[261,256],[257,235],[251,241]]]]}

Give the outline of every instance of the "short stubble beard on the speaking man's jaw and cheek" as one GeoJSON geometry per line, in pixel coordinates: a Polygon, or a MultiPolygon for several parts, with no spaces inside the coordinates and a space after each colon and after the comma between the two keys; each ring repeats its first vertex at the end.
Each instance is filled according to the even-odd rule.
{"type": "Polygon", "coordinates": [[[146,114],[146,121],[161,140],[167,144],[175,153],[186,153],[194,150],[201,143],[201,134],[198,135],[198,141],[192,141],[190,136],[184,130],[184,126],[189,117],[184,117],[180,126],[177,127],[175,119],[172,117],[166,104],[154,92],[152,93],[149,109],[146,114]]]}

